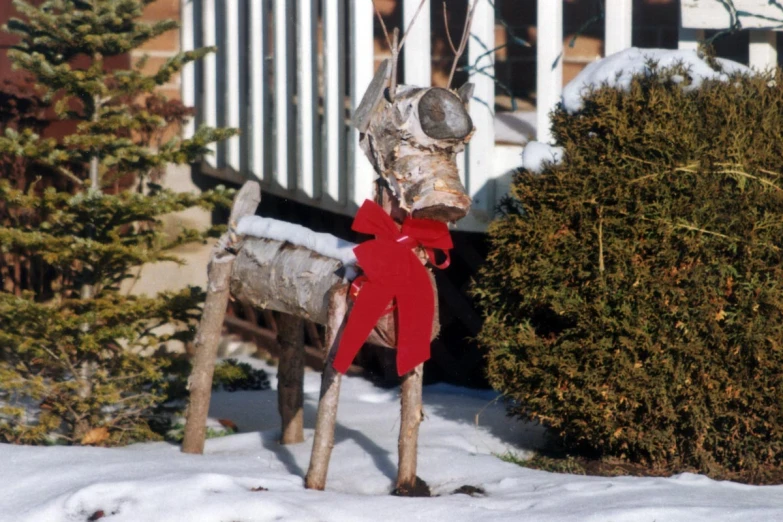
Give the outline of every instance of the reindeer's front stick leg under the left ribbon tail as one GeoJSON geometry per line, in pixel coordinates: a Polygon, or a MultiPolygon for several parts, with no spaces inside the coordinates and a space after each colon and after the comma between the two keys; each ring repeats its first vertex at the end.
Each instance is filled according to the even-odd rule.
{"type": "Polygon", "coordinates": [[[313,451],[310,455],[310,467],[305,477],[307,489],[323,490],[326,487],[326,474],[329,471],[329,459],[334,447],[334,427],[337,422],[337,403],[340,398],[340,373],[334,369],[333,362],[340,344],[345,317],[348,313],[348,286],[334,287],[329,292],[329,315],[326,325],[326,346],[329,355],[324,363],[321,380],[321,397],[318,401],[318,416],[315,422],[313,451]]]}

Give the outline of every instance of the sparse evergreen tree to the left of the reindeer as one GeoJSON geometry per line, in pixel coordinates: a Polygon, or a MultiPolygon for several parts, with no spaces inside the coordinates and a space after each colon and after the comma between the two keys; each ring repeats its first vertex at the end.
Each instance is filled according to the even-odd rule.
{"type": "Polygon", "coordinates": [[[32,86],[0,93],[0,441],[121,444],[155,438],[148,421],[172,379],[162,343],[188,341],[203,292],[121,292],[130,270],[218,230],[164,235],[161,216],[225,206],[222,189],[154,183],[232,129],[181,139],[192,110],[156,94],[188,62],[152,74],[106,61],[176,27],[141,20],[152,0],[14,0],[9,51],[32,86]],[[47,120],[70,131],[45,138],[47,120]],[[124,187],[124,189],[123,189],[124,187]],[[174,333],[158,333],[175,325],[174,333]]]}

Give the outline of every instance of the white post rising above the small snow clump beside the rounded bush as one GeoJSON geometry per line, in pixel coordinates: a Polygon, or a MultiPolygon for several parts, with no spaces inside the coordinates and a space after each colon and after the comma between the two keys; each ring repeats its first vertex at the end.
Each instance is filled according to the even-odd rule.
{"type": "Polygon", "coordinates": [[[563,92],[563,0],[538,0],[537,24],[542,30],[536,41],[536,139],[550,143],[549,113],[563,92]]]}

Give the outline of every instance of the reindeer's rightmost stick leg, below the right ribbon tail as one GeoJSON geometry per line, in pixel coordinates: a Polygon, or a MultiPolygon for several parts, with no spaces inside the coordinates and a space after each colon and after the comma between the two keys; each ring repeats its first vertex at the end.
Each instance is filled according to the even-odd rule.
{"type": "Polygon", "coordinates": [[[398,444],[399,467],[397,492],[411,494],[416,489],[416,457],[419,441],[419,424],[423,418],[422,379],[424,365],[420,364],[402,378],[400,439],[398,444]]]}

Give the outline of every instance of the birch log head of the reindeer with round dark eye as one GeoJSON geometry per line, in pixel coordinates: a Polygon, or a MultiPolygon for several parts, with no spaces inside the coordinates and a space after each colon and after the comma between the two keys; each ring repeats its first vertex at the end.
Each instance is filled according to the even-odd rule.
{"type": "Polygon", "coordinates": [[[467,103],[473,85],[458,91],[398,85],[389,90],[392,65],[384,61],[354,114],[359,143],[412,217],[454,222],[470,210],[456,156],[473,136],[467,103]]]}

